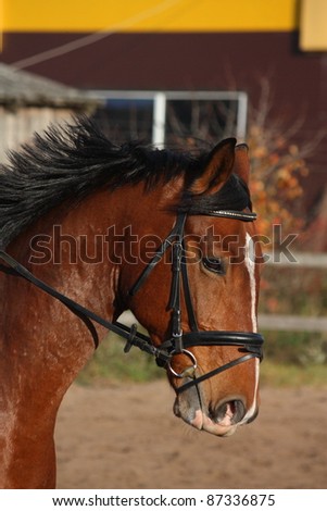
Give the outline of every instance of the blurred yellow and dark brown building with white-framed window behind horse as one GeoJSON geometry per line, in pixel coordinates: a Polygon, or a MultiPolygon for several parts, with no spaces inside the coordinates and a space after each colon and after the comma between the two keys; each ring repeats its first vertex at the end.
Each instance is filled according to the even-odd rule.
{"type": "MultiPolygon", "coordinates": [[[[176,141],[177,134],[184,140],[236,135],[242,141],[255,117],[257,128],[274,126],[268,151],[278,146],[278,132],[288,152],[305,158],[303,208],[312,221],[320,214],[327,164],[325,0],[2,0],[0,20],[0,62],[10,66],[2,65],[0,74],[2,139],[11,137],[4,134],[5,115],[13,108],[21,115],[13,98],[3,100],[4,77],[14,75],[22,85],[25,72],[38,75],[34,84],[42,77],[66,87],[56,89],[66,98],[61,111],[84,110],[76,89],[84,91],[86,107],[90,97],[99,101],[95,117],[117,140],[138,137],[160,146],[176,141]]],[[[55,116],[55,87],[43,82],[43,90],[45,117],[49,104],[55,116]]],[[[39,99],[33,103],[40,107],[39,99]]],[[[319,250],[327,250],[320,233],[319,250]]]]}

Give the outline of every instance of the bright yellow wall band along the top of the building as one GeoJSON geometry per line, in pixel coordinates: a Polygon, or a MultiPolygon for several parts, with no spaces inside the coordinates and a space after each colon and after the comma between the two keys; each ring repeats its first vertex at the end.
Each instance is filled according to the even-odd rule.
{"type": "Polygon", "coordinates": [[[297,0],[1,2],[3,32],[227,32],[291,30],[295,27],[297,0]]]}

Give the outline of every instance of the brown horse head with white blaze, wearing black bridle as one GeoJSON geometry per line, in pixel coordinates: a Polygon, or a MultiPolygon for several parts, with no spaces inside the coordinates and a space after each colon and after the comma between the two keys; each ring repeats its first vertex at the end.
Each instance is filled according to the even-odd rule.
{"type": "Polygon", "coordinates": [[[169,184],[168,203],[161,197],[158,216],[143,219],[148,232],[165,233],[162,242],[127,285],[128,307],[171,354],[175,414],[218,436],[259,409],[261,252],[248,180],[248,148],[227,139],[174,192],[169,184]]]}

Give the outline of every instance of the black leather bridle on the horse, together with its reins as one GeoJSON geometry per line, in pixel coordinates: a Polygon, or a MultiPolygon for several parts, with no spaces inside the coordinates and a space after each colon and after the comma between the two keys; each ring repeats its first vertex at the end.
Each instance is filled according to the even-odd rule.
{"type": "MultiPolygon", "coordinates": [[[[0,259],[2,259],[7,265],[0,265],[0,270],[7,274],[18,275],[24,277],[26,281],[37,286],[48,295],[58,299],[64,303],[73,313],[80,317],[89,328],[96,348],[98,346],[98,335],[93,325],[93,322],[104,326],[105,328],[114,332],[126,340],[124,348],[125,352],[128,352],[133,346],[138,347],[142,351],[146,351],[155,357],[156,363],[160,366],[166,367],[175,377],[186,378],[187,382],[177,387],[175,390],[177,394],[181,394],[193,385],[215,376],[228,369],[239,365],[253,358],[262,360],[262,335],[253,332],[236,332],[236,331],[199,331],[194,309],[191,300],[190,285],[187,272],[187,261],[185,256],[185,223],[189,214],[192,213],[178,213],[174,227],[172,228],[168,236],[164,239],[161,246],[155,251],[153,258],[144,267],[131,289],[129,295],[135,296],[140,287],[144,284],[146,279],[161,261],[164,253],[172,248],[172,287],[171,298],[168,308],[172,310],[172,326],[171,337],[164,340],[160,347],[152,345],[151,338],[137,331],[137,325],[128,327],[120,322],[109,322],[101,316],[97,315],[92,311],[80,306],[71,298],[62,295],[58,290],[53,289],[48,284],[43,283],[39,278],[35,277],[25,266],[12,258],[9,253],[0,247],[0,259]],[[181,306],[180,296],[181,289],[184,292],[184,299],[186,303],[188,323],[190,332],[184,333],[181,329],[181,306]],[[209,373],[196,376],[197,359],[189,348],[194,346],[235,346],[239,348],[240,352],[246,354],[221,365],[209,373]],[[181,373],[177,373],[172,366],[172,360],[175,356],[184,353],[190,360],[192,365],[187,367],[181,373]]],[[[232,210],[212,210],[210,212],[194,213],[197,215],[203,214],[206,216],[217,216],[224,219],[234,219],[242,222],[253,222],[256,219],[256,214],[253,212],[240,212],[232,210]]]]}

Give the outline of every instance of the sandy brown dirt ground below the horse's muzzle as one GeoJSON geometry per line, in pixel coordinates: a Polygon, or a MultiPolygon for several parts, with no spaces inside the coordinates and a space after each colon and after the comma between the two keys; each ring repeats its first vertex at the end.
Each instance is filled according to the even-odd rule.
{"type": "Polygon", "coordinates": [[[327,488],[327,386],[263,388],[229,438],[172,412],[165,381],[74,385],[56,427],[58,488],[327,488]]]}

